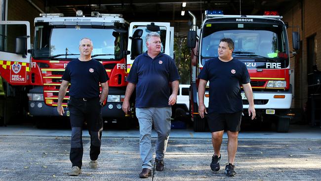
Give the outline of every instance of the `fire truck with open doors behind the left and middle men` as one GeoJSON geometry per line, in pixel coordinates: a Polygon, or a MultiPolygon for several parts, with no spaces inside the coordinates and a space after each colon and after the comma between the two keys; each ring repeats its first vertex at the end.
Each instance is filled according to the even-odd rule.
{"type": "MultiPolygon", "coordinates": [[[[23,87],[29,99],[26,110],[30,116],[59,116],[56,106],[61,77],[68,62],[79,57],[78,42],[87,37],[94,47],[91,57],[104,65],[110,78],[102,116],[106,121],[128,127],[134,114],[125,115],[121,106],[130,67],[135,57],[146,49],[145,36],[151,31],[161,34],[161,51],[171,54],[173,32],[170,30],[173,29],[169,23],[161,22],[129,24],[121,14],[92,12],[91,16],[84,16],[79,10],[76,15],[40,14],[34,22],[33,46],[29,22],[1,21],[0,76],[13,90],[20,91],[23,87]]],[[[64,116],[70,114],[68,99],[69,88],[63,99],[64,116]]],[[[134,99],[131,103],[134,105],[134,99]]],[[[42,119],[40,124],[46,124],[46,120],[42,119]]]]}

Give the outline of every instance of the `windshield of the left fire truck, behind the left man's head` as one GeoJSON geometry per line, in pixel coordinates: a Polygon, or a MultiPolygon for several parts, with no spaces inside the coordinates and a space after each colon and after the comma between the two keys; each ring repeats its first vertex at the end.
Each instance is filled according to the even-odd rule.
{"type": "Polygon", "coordinates": [[[79,57],[82,38],[93,42],[91,55],[96,59],[123,58],[126,33],[112,28],[91,26],[37,26],[33,57],[37,59],[72,59],[79,57]]]}

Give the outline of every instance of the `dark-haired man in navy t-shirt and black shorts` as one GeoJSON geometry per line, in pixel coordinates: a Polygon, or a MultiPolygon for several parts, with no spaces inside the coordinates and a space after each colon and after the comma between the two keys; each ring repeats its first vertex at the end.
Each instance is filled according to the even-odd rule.
{"type": "Polygon", "coordinates": [[[214,155],[210,167],[213,171],[220,170],[220,148],[224,130],[228,135],[228,159],[225,167],[227,176],[235,176],[234,159],[238,148],[238,134],[241,126],[243,87],[249,107],[248,115],[255,118],[253,92],[250,77],[244,63],[232,57],[234,42],[231,39],[221,39],[218,45],[218,57],[208,60],[199,75],[199,114],[204,118],[207,114],[204,105],[204,94],[209,81],[209,103],[207,122],[212,133],[214,155]]]}

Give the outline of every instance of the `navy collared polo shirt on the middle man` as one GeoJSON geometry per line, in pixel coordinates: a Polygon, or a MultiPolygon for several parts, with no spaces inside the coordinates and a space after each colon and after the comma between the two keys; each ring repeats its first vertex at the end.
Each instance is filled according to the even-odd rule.
{"type": "Polygon", "coordinates": [[[179,80],[173,59],[160,53],[154,59],[147,52],[135,59],[127,82],[136,84],[135,107],[169,107],[169,82],[179,80]]]}

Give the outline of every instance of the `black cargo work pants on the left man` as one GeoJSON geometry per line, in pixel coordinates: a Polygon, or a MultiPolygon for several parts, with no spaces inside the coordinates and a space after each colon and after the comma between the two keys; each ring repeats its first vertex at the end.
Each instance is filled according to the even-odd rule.
{"type": "Polygon", "coordinates": [[[82,166],[82,125],[87,122],[90,135],[90,159],[97,160],[100,154],[103,119],[99,97],[96,98],[73,98],[68,102],[70,111],[70,124],[72,128],[70,161],[73,166],[82,166]]]}

